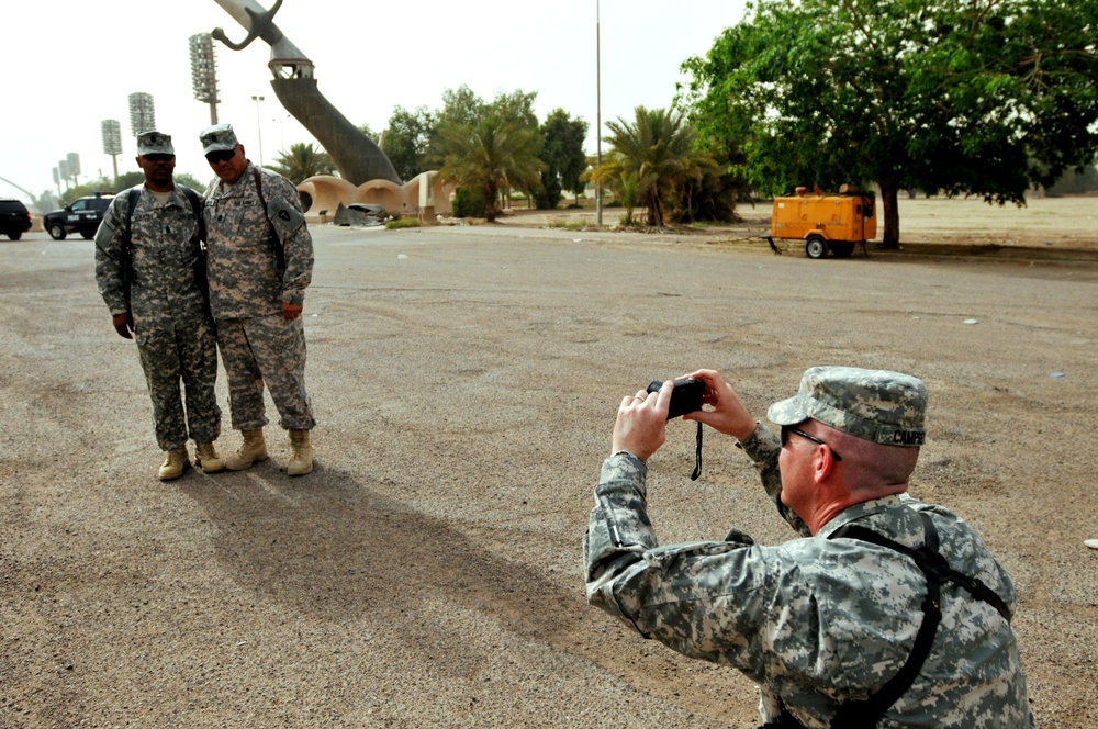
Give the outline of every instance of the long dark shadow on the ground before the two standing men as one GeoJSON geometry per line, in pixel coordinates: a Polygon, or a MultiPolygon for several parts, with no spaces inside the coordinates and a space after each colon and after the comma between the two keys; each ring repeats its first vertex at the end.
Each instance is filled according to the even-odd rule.
{"type": "Polygon", "coordinates": [[[369,479],[317,468],[291,480],[268,461],[184,479],[180,487],[216,529],[217,559],[242,586],[294,612],[369,619],[421,644],[433,661],[446,662],[434,649],[453,640],[438,619],[442,604],[559,646],[573,643],[592,619],[579,583],[552,584],[446,521],[379,495],[369,479]]]}

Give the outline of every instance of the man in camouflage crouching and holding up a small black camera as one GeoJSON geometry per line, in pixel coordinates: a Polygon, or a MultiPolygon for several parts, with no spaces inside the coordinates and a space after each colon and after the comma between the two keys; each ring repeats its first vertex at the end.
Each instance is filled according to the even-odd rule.
{"type": "Polygon", "coordinates": [[[1031,727],[1015,591],[975,531],[907,493],[925,437],[912,377],[818,367],[757,423],[712,370],[709,411],[802,539],[660,547],[646,508],[671,383],[626,397],[584,538],[587,599],[758,682],[768,727],[1031,727]]]}

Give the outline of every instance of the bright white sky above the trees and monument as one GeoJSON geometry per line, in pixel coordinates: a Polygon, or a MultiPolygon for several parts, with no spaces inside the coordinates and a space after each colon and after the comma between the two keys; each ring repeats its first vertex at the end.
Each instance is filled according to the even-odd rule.
{"type": "MultiPolygon", "coordinates": [[[[260,0],[265,7],[273,0],[260,0]]],[[[274,22],[315,65],[322,93],[354,124],[383,130],[393,108],[434,111],[442,91],[462,83],[485,101],[497,91],[537,91],[540,121],[560,106],[590,124],[595,153],[604,122],[632,119],[638,105],[666,108],[683,60],[704,55],[721,30],[743,16],[744,0],[598,0],[602,99],[596,92],[596,0],[556,3],[485,0],[283,0],[274,22]]],[[[153,94],[156,125],[172,135],[178,172],[212,176],[198,144],[210,108],[191,88],[188,38],[245,30],[214,0],[4,0],[5,101],[0,112],[0,178],[34,194],[54,189],[52,169],[80,155],[80,181],[113,173],[100,122],[117,120],[119,172],[136,169],[128,97],[153,94]],[[186,11],[183,10],[186,9],[186,11]],[[128,11],[128,12],[127,12],[128,11]]],[[[312,136],[282,109],[270,87],[270,47],[216,43],[220,122],[236,128],[254,161],[312,136]],[[253,96],[264,96],[258,104],[253,96]],[[261,132],[261,136],[260,136],[261,132]]],[[[605,152],[605,145],[604,145],[605,152]]],[[[63,187],[64,189],[64,187],[63,187]]],[[[0,195],[26,200],[0,180],[0,195]]]]}

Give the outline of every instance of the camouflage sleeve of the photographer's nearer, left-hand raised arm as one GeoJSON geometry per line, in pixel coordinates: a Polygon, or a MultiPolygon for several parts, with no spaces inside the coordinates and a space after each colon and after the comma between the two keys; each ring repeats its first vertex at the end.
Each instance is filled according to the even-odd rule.
{"type": "Polygon", "coordinates": [[[583,539],[587,602],[680,653],[750,670],[773,598],[764,561],[749,537],[660,547],[646,473],[629,455],[603,463],[583,539]]]}

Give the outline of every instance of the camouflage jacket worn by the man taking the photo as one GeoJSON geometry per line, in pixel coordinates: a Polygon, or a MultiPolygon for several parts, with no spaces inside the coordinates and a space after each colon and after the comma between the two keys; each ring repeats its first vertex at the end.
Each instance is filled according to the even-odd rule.
{"type": "MultiPolygon", "coordinates": [[[[783,419],[781,405],[771,408],[772,419],[783,419]]],[[[826,422],[826,415],[816,416],[826,422]]],[[[833,426],[837,418],[830,419],[833,426]]],[[[735,666],[758,682],[764,721],[777,720],[784,707],[805,727],[827,727],[841,703],[876,692],[911,653],[923,620],[926,577],[892,549],[828,539],[847,524],[918,547],[919,512],[928,513],[939,551],[953,569],[983,580],[1013,612],[1010,579],[948,509],[907,494],[887,496],[848,507],[810,537],[780,501],[778,437],[760,424],[741,446],[768,494],[805,538],[765,547],[733,530],[725,541],[660,547],[646,507],[647,466],[620,452],[603,463],[595,490],[583,546],[585,576],[591,604],[646,638],[735,666]]],[[[1033,726],[1007,620],[952,585],[942,590],[941,610],[927,662],[877,726],[1033,726]]]]}

